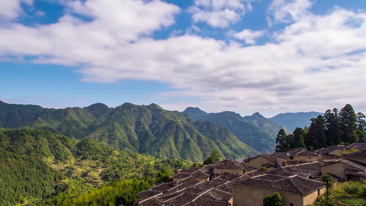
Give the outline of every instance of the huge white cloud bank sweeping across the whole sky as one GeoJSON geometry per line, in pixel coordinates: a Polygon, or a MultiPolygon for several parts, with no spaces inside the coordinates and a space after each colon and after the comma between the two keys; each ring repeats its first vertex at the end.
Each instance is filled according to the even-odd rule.
{"type": "MultiPolygon", "coordinates": [[[[180,12],[163,1],[88,0],[68,7],[92,20],[65,14],[51,25],[11,23],[0,28],[0,57],[35,55],[31,62],[76,65],[83,81],[162,82],[176,91],[161,97],[198,99],[184,107],[207,111],[366,108],[365,12],[335,8],[296,18],[271,42],[243,46],[192,34],[155,40],[151,34],[180,12]]],[[[255,31],[248,32],[241,38],[255,41],[255,31]]]]}

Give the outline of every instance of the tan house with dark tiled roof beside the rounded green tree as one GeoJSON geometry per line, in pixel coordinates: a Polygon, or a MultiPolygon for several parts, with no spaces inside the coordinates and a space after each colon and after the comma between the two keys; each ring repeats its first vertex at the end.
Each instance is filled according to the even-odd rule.
{"type": "Polygon", "coordinates": [[[236,161],[235,159],[224,159],[213,166],[214,176],[225,172],[229,174],[242,175],[244,174],[244,165],[242,162],[236,161]]]}

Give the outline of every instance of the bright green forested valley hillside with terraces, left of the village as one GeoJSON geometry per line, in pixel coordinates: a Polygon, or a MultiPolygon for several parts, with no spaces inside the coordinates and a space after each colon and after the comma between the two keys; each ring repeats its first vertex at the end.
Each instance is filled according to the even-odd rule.
{"type": "Polygon", "coordinates": [[[0,130],[0,205],[130,205],[192,163],[42,130],[0,130]]]}

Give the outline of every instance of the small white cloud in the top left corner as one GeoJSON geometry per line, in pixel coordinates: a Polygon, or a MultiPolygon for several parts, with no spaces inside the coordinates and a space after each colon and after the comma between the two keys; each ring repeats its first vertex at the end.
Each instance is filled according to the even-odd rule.
{"type": "Polygon", "coordinates": [[[23,12],[20,3],[32,5],[33,0],[0,0],[0,20],[18,17],[23,12]]]}

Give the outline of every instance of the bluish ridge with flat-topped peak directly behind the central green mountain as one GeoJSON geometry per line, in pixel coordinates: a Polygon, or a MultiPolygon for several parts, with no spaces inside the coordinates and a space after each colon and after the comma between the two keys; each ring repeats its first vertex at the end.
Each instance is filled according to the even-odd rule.
{"type": "MultiPolygon", "coordinates": [[[[188,107],[189,108],[189,107],[188,107]]],[[[185,113],[191,115],[191,109],[184,110],[185,113]]],[[[198,119],[208,120],[224,126],[230,132],[232,132],[240,141],[247,144],[250,147],[253,147],[255,150],[259,152],[268,152],[270,148],[276,147],[276,135],[270,134],[266,132],[264,129],[258,127],[258,125],[249,123],[246,119],[240,116],[240,114],[232,112],[232,111],[224,111],[221,113],[206,113],[207,116],[203,117],[197,116],[197,114],[204,114],[202,112],[196,111],[193,116],[198,119]]],[[[202,111],[202,110],[200,110],[202,111]]],[[[197,119],[196,119],[197,120],[197,119]]],[[[259,123],[261,124],[261,122],[259,123]]],[[[278,133],[278,131],[277,131],[278,133]]],[[[273,150],[272,150],[273,152],[273,150]]]]}

